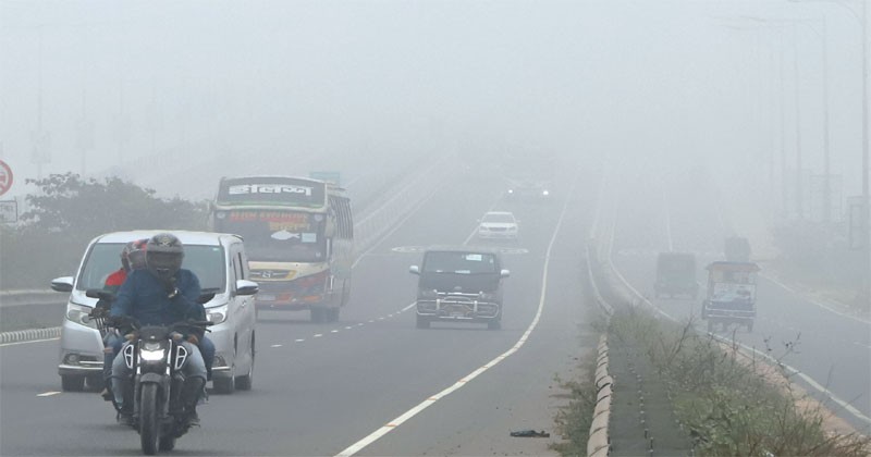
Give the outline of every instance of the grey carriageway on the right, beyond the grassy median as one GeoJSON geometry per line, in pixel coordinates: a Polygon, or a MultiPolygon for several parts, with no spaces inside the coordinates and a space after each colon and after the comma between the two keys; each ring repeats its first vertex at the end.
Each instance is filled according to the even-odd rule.
{"type": "MultiPolygon", "coordinates": [[[[625,180],[617,210],[614,263],[626,280],[662,312],[679,322],[690,318],[701,332],[707,271],[723,260],[723,240],[733,235],[710,181],[673,175],[668,180],[625,180]],[[635,227],[646,226],[646,231],[635,227]],[[695,252],[701,283],[698,299],[653,298],[657,254],[695,252]]],[[[738,234],[740,235],[740,234],[738,234]]],[[[871,323],[805,299],[765,277],[758,285],[752,333],[716,328],[717,335],[766,354],[800,374],[792,379],[818,394],[838,417],[859,430],[871,427],[871,323]],[[830,391],[820,395],[821,391],[830,391]]],[[[788,371],[788,369],[787,369],[788,371]]]]}

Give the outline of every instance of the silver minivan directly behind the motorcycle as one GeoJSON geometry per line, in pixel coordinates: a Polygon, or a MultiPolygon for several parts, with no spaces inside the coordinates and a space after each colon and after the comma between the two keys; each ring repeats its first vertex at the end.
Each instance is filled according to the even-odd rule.
{"type": "MultiPolygon", "coordinates": [[[[100,235],[87,247],[75,276],[58,277],[51,288],[70,293],[61,324],[60,365],[64,391],[82,391],[102,384],[103,344],[88,317],[97,299],[87,289],[102,288],[106,277],[118,270],[119,254],[127,242],[150,238],[168,231],[114,232],[100,235]]],[[[212,386],[218,393],[252,388],[255,354],[254,294],[248,258],[237,235],[211,232],[169,231],[184,244],[182,268],[193,271],[203,289],[216,295],[206,302],[206,317],[213,323],[207,335],[214,343],[212,386]]]]}

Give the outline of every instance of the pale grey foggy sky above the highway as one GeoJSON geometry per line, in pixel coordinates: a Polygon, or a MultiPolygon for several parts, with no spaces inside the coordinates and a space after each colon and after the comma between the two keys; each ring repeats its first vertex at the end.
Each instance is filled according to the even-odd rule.
{"type": "Polygon", "coordinates": [[[802,168],[822,173],[825,17],[832,172],[854,195],[861,48],[849,8],[858,0],[0,0],[0,158],[20,183],[36,176],[41,112],[44,175],[453,148],[613,153],[775,188],[782,139],[796,164],[797,121],[802,168]]]}

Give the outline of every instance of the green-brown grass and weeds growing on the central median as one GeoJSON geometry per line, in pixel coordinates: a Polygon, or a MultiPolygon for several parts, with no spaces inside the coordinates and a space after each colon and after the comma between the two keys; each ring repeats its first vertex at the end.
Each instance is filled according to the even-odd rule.
{"type": "MultiPolygon", "coordinates": [[[[647,348],[646,356],[667,383],[675,417],[691,439],[695,455],[871,455],[871,437],[829,430],[832,412],[795,388],[780,367],[697,333],[692,322],[661,321],[634,309],[615,313],[608,332],[609,339],[631,337],[647,348]]],[[[788,357],[793,346],[785,344],[778,360],[788,357]]],[[[563,456],[586,455],[596,406],[594,361],[585,362],[580,372],[578,380],[559,380],[572,398],[555,418],[565,441],[552,448],[563,456]]]]}

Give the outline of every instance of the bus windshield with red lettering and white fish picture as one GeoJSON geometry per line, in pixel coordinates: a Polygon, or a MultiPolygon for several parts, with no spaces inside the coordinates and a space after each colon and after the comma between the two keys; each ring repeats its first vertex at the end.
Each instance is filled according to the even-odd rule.
{"type": "Polygon", "coordinates": [[[216,220],[216,230],[245,238],[248,258],[272,262],[327,259],[324,217],[303,211],[233,210],[216,220]]]}

